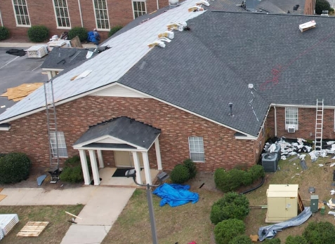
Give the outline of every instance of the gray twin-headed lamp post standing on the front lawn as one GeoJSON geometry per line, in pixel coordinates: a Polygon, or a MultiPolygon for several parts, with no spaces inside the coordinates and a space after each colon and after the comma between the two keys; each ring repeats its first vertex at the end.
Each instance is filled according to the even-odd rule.
{"type": "Polygon", "coordinates": [[[149,215],[150,215],[150,226],[151,226],[151,234],[152,234],[152,244],[158,244],[157,240],[157,231],[156,231],[156,222],[155,222],[155,214],[154,214],[154,205],[152,204],[152,192],[151,187],[159,187],[163,181],[169,178],[169,175],[166,172],[160,172],[157,175],[159,180],[159,184],[139,184],[136,182],[136,170],[127,170],[126,177],[133,177],[133,182],[140,187],[146,187],[147,189],[147,205],[149,207],[149,215]]]}

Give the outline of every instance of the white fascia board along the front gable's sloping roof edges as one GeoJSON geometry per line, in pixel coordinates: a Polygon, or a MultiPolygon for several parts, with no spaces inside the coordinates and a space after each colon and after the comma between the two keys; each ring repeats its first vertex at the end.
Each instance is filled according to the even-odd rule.
{"type": "MultiPolygon", "coordinates": [[[[193,115],[198,116],[198,117],[200,117],[200,118],[204,118],[204,119],[206,119],[207,121],[211,121],[211,122],[213,122],[213,123],[216,123],[216,124],[219,125],[219,126],[223,126],[223,127],[228,128],[228,129],[230,129],[230,130],[234,130],[234,131],[236,131],[236,132],[238,132],[238,133],[245,134],[245,135],[247,135],[247,137],[254,137],[254,135],[249,135],[248,133],[245,133],[245,132],[243,132],[242,130],[236,130],[235,128],[232,128],[232,127],[230,127],[230,126],[226,126],[226,125],[224,125],[223,123],[219,123],[218,121],[214,121],[214,120],[211,119],[211,118],[207,118],[207,117],[202,116],[202,115],[200,115],[200,114],[197,114],[197,113],[195,113],[195,112],[193,112],[193,111],[190,111],[190,110],[188,110],[188,109],[184,109],[184,108],[179,107],[179,106],[177,106],[177,105],[175,105],[175,104],[172,104],[172,103],[170,103],[170,102],[166,102],[166,101],[164,101],[164,100],[161,100],[161,99],[159,99],[159,98],[157,98],[157,97],[153,97],[152,95],[149,95],[149,94],[147,94],[147,93],[140,92],[139,90],[136,90],[136,89],[134,89],[134,88],[130,88],[129,86],[125,86],[124,84],[121,84],[121,83],[118,83],[118,82],[113,82],[113,83],[108,84],[107,86],[101,86],[100,88],[96,88],[96,89],[93,89],[93,90],[89,90],[89,91],[86,92],[86,93],[81,93],[81,94],[79,94],[79,95],[77,95],[77,96],[69,97],[69,98],[67,98],[67,99],[65,99],[65,100],[62,100],[62,101],[59,101],[59,102],[55,102],[55,106],[58,106],[58,105],[60,105],[60,104],[65,104],[65,103],[67,103],[67,102],[71,102],[71,101],[73,101],[73,100],[77,100],[77,99],[79,99],[79,98],[81,98],[81,97],[85,97],[86,95],[90,95],[91,93],[96,93],[96,92],[99,91],[99,90],[103,90],[103,89],[106,89],[106,88],[110,88],[110,87],[112,87],[112,86],[123,86],[124,88],[128,88],[129,90],[133,90],[134,92],[140,93],[141,95],[146,95],[147,97],[150,97],[150,98],[152,98],[152,99],[154,99],[154,100],[157,100],[157,101],[159,101],[159,102],[163,102],[163,103],[165,103],[165,104],[168,104],[168,105],[170,105],[171,107],[175,107],[175,108],[180,109],[180,110],[182,110],[182,111],[186,111],[186,112],[188,112],[189,114],[193,114],[193,115]]],[[[24,114],[20,114],[20,115],[18,115],[18,116],[13,116],[12,118],[8,118],[8,119],[6,119],[6,120],[4,120],[4,121],[0,121],[0,123],[8,123],[8,122],[10,122],[10,121],[14,121],[14,120],[16,120],[16,119],[18,119],[18,118],[23,118],[23,117],[25,117],[25,116],[29,116],[29,115],[35,114],[35,113],[37,113],[37,112],[39,112],[39,111],[43,111],[43,110],[45,110],[45,107],[41,107],[41,108],[39,108],[39,109],[34,109],[34,110],[32,110],[32,111],[29,111],[29,112],[24,113],[24,114]]]]}

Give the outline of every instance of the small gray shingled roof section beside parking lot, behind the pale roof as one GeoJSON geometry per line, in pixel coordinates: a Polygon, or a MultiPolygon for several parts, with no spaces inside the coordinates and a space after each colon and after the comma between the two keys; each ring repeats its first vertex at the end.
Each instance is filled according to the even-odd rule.
{"type": "Polygon", "coordinates": [[[86,48],[58,48],[55,47],[48,53],[41,68],[45,69],[65,69],[76,65],[81,60],[86,60],[86,48]]]}

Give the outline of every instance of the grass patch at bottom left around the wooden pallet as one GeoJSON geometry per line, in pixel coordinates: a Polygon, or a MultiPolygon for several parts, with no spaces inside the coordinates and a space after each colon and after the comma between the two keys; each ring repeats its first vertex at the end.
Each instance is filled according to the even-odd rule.
{"type": "Polygon", "coordinates": [[[69,229],[72,219],[65,211],[78,215],[84,205],[45,205],[45,206],[1,206],[0,214],[17,214],[20,222],[14,226],[7,236],[0,240],[1,244],[55,244],[60,243],[69,229]],[[46,229],[37,237],[21,237],[16,234],[28,221],[49,222],[46,229]]]}

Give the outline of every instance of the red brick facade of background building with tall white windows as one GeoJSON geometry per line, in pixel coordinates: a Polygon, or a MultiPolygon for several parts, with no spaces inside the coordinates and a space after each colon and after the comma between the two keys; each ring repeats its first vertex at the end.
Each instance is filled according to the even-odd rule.
{"type": "MultiPolygon", "coordinates": [[[[26,0],[31,25],[45,25],[49,29],[50,36],[57,34],[60,36],[63,32],[68,32],[70,28],[57,27],[55,20],[55,10],[53,8],[54,0],[26,0]]],[[[106,0],[110,28],[121,25],[124,26],[133,20],[132,1],[106,0]]],[[[157,10],[157,1],[159,8],[169,5],[168,0],[146,0],[147,13],[157,10]]],[[[90,31],[96,28],[92,0],[67,0],[71,27],[81,27],[79,14],[79,2],[81,6],[81,15],[84,27],[90,31]]],[[[13,0],[1,0],[0,11],[2,22],[7,27],[11,36],[14,38],[27,38],[29,27],[18,27],[15,22],[15,13],[13,11],[13,0]]],[[[1,25],[1,21],[0,21],[1,25]]],[[[109,29],[100,31],[102,39],[106,39],[109,29]]]]}

